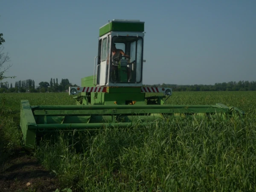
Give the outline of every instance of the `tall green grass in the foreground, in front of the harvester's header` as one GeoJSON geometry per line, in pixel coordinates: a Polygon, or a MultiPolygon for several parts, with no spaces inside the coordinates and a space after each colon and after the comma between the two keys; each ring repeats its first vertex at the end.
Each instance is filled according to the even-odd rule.
{"type": "Polygon", "coordinates": [[[61,133],[35,151],[73,189],[255,190],[256,131],[246,123],[177,120],[77,135],[61,133]]]}

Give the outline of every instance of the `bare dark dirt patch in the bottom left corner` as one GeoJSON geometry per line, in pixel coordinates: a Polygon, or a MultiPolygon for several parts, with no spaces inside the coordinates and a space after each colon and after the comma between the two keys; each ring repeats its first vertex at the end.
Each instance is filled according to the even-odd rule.
{"type": "Polygon", "coordinates": [[[54,192],[60,189],[58,183],[55,175],[22,148],[0,167],[0,192],[54,192]]]}

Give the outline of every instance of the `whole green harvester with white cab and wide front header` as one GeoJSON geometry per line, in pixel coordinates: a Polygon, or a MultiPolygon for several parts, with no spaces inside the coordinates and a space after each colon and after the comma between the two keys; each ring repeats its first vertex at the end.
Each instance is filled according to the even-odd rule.
{"type": "Polygon", "coordinates": [[[244,115],[238,108],[219,103],[167,105],[171,88],[143,87],[144,35],[140,20],[115,19],[99,29],[93,76],[82,78],[81,87],[69,87],[77,105],[31,106],[22,100],[20,128],[25,148],[34,149],[36,137],[50,131],[127,128],[174,117],[227,119],[244,115]],[[125,55],[118,52],[120,49],[125,55]],[[155,95],[146,97],[146,93],[155,95]]]}

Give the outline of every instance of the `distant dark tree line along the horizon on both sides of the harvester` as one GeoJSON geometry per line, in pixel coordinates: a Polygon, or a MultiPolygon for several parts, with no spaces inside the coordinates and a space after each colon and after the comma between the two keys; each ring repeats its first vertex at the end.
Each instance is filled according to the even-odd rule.
{"type": "MultiPolygon", "coordinates": [[[[35,81],[27,79],[25,81],[16,81],[15,87],[12,83],[0,81],[0,93],[13,92],[64,92],[68,87],[76,87],[78,85],[70,83],[68,79],[61,79],[58,83],[58,78],[50,79],[49,82],[41,81],[39,86],[35,87],[35,81]]],[[[256,90],[256,81],[230,81],[223,83],[215,83],[214,85],[194,84],[194,85],[177,85],[177,84],[144,84],[143,87],[170,87],[173,91],[254,91],[256,90]]]]}

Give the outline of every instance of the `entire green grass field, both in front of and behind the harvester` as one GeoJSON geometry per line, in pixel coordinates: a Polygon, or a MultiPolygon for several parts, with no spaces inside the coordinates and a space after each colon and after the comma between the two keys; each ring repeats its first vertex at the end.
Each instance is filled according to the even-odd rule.
{"type": "MultiPolygon", "coordinates": [[[[43,140],[32,156],[73,191],[256,191],[256,92],[178,92],[169,104],[223,103],[242,121],[161,122],[64,132],[43,140]]],[[[0,163],[22,144],[20,99],[31,105],[72,105],[67,93],[0,94],[0,163]]],[[[36,191],[36,189],[34,190],[36,191]]]]}

